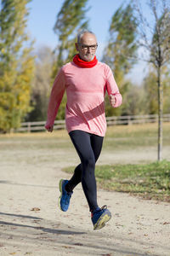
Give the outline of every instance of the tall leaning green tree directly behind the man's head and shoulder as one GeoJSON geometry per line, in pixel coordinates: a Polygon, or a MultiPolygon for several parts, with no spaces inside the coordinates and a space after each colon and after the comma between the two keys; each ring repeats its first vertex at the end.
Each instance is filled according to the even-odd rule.
{"type": "MultiPolygon", "coordinates": [[[[88,11],[86,9],[87,3],[88,0],[65,0],[57,15],[54,32],[59,37],[59,43],[54,50],[56,61],[54,61],[52,83],[59,68],[66,62],[71,61],[73,55],[76,54],[77,33],[84,28],[88,28],[88,20],[85,17],[88,11]]],[[[59,119],[65,119],[65,102],[66,96],[63,97],[59,107],[57,115],[59,119]]]]}

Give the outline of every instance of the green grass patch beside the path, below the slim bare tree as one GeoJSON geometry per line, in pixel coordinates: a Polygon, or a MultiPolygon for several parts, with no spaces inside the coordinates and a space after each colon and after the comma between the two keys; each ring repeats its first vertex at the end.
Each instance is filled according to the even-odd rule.
{"type": "MultiPolygon", "coordinates": [[[[63,169],[72,170],[73,167],[63,169]]],[[[96,166],[95,175],[102,189],[170,202],[170,162],[167,160],[145,165],[96,166]]]]}

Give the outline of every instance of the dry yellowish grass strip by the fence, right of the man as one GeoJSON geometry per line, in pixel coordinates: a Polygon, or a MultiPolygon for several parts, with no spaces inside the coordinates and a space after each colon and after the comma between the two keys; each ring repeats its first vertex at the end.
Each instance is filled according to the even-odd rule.
{"type": "MultiPolygon", "coordinates": [[[[163,124],[163,145],[170,145],[170,123],[163,124]]],[[[104,147],[111,149],[157,147],[157,124],[120,125],[108,127],[104,147]]]]}

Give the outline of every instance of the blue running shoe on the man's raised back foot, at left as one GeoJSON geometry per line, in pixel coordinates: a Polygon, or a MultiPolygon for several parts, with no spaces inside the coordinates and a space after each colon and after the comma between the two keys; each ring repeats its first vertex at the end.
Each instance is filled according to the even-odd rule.
{"type": "Polygon", "coordinates": [[[73,192],[67,192],[65,190],[65,185],[69,181],[66,179],[59,180],[59,191],[61,195],[59,196],[59,208],[61,211],[66,212],[70,206],[71,195],[73,192]]]}

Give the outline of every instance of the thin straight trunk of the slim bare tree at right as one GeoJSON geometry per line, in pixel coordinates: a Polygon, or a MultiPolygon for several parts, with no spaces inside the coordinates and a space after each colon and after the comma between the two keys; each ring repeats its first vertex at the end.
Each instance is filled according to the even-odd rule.
{"type": "Polygon", "coordinates": [[[163,139],[163,85],[161,84],[161,67],[157,68],[157,85],[158,85],[158,158],[162,160],[162,139],[163,139]]]}

